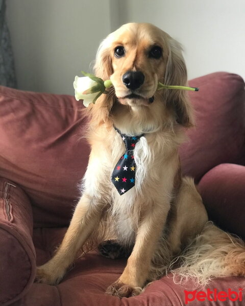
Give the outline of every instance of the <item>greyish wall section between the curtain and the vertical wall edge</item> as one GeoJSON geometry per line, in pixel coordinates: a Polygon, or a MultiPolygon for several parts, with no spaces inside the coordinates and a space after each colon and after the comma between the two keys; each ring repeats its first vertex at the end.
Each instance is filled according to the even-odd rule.
{"type": "Polygon", "coordinates": [[[74,94],[100,41],[111,31],[109,0],[8,0],[18,88],[74,94]]]}

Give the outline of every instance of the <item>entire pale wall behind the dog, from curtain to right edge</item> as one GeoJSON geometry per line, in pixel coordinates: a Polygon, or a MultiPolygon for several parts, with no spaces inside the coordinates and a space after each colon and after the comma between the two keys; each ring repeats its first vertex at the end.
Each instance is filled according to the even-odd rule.
{"type": "Polygon", "coordinates": [[[74,94],[101,40],[120,24],[151,22],[185,49],[189,79],[245,79],[245,0],[8,0],[18,88],[74,94]]]}

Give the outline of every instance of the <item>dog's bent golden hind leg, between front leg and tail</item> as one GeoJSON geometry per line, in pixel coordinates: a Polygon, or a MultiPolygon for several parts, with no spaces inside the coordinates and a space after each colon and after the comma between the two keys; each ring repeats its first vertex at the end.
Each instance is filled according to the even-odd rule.
{"type": "Polygon", "coordinates": [[[193,180],[184,177],[171,203],[166,228],[152,258],[149,281],[166,274],[171,260],[201,233],[207,220],[202,198],[193,180]]]}

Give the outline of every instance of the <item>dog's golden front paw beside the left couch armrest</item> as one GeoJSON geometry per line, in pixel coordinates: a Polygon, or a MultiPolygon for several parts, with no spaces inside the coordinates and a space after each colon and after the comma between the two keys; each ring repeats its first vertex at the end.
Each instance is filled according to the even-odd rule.
{"type": "Polygon", "coordinates": [[[40,267],[37,267],[36,270],[36,283],[44,283],[48,285],[57,285],[64,276],[64,272],[59,269],[52,268],[48,263],[40,267]]]}

